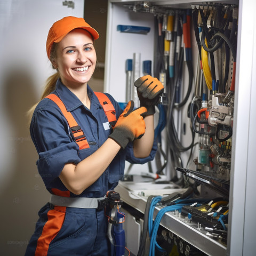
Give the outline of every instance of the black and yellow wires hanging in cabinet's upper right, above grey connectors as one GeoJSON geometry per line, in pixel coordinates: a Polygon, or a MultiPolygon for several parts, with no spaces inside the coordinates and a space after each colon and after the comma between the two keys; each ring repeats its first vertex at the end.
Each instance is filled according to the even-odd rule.
{"type": "MultiPolygon", "coordinates": [[[[193,15],[201,18],[202,22],[199,24],[202,30],[201,35],[201,55],[203,62],[204,77],[207,87],[215,92],[225,93],[235,90],[235,69],[236,69],[236,35],[237,35],[237,20],[238,9],[234,6],[215,5],[211,8],[209,6],[199,6],[197,9],[194,6],[193,15]],[[199,12],[199,16],[198,16],[199,12]],[[223,82],[219,76],[219,49],[225,49],[225,72],[223,82]],[[230,55],[231,51],[231,55],[230,55]],[[209,74],[209,66],[207,65],[207,53],[210,55],[211,74],[209,74]],[[231,85],[227,84],[230,57],[233,55],[233,76],[231,85]],[[207,70],[208,69],[208,70],[207,70]],[[209,78],[210,77],[210,78],[209,78]],[[210,83],[212,81],[212,84],[210,83]]],[[[195,34],[198,34],[195,29],[195,34]]],[[[226,101],[226,100],[225,100],[226,101]]]]}

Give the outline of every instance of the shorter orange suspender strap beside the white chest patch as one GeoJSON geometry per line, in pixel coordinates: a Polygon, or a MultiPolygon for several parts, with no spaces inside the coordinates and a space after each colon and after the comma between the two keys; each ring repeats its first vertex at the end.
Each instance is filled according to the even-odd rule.
{"type": "Polygon", "coordinates": [[[111,103],[110,99],[107,97],[106,94],[102,92],[94,92],[95,95],[97,96],[100,105],[102,106],[109,122],[109,127],[110,129],[113,129],[113,127],[116,124],[116,110],[111,103]]]}

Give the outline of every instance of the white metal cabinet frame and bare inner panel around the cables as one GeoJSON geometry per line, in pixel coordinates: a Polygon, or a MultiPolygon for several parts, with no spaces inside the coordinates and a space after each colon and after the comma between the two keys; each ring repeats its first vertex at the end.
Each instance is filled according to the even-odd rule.
{"type": "MultiPolygon", "coordinates": [[[[116,26],[129,23],[134,26],[153,27],[153,18],[148,13],[129,13],[124,5],[135,1],[110,0],[108,3],[107,45],[105,62],[105,91],[119,101],[125,99],[125,60],[135,51],[141,60],[153,59],[154,35],[120,34],[116,26]]],[[[202,1],[146,1],[163,6],[187,8],[202,1]]],[[[215,1],[208,1],[215,2],[215,1]]],[[[229,229],[227,249],[221,255],[253,255],[254,180],[253,170],[255,114],[255,70],[256,70],[256,2],[250,0],[218,1],[238,4],[237,68],[235,82],[233,148],[230,174],[229,229]]],[[[142,73],[141,73],[142,75],[142,73]]],[[[172,220],[173,221],[173,220],[172,220]]],[[[183,225],[179,223],[179,225],[183,225]]],[[[185,229],[181,228],[180,231],[185,229]]],[[[191,233],[193,236],[193,231],[191,233]]],[[[202,236],[202,241],[204,241],[202,236]]],[[[208,243],[208,241],[207,241],[208,243]]],[[[214,254],[213,254],[214,255],[214,254]]]]}

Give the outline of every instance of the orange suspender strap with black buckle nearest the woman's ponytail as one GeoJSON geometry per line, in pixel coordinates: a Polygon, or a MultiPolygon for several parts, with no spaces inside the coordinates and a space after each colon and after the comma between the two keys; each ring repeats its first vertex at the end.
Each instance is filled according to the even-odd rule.
{"type": "Polygon", "coordinates": [[[75,139],[75,142],[77,143],[77,145],[79,146],[79,150],[84,149],[84,148],[90,148],[86,137],[84,135],[83,130],[81,129],[81,127],[77,124],[75,118],[73,117],[73,115],[67,111],[65,105],[63,104],[63,102],[61,101],[61,99],[55,95],[55,94],[49,94],[47,95],[45,98],[48,98],[52,101],[54,101],[58,107],[60,108],[62,114],[66,117],[69,127],[73,133],[73,137],[75,139]]]}

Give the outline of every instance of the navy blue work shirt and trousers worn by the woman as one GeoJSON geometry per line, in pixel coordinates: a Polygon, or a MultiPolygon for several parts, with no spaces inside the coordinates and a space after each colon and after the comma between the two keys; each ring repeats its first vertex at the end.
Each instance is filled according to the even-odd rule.
{"type": "MultiPolygon", "coordinates": [[[[79,150],[59,107],[52,100],[45,98],[37,105],[30,124],[31,138],[39,155],[37,168],[51,194],[77,197],[63,185],[59,179],[60,172],[65,164],[78,164],[107,140],[110,130],[105,130],[103,123],[107,123],[108,119],[89,86],[87,93],[91,100],[90,110],[61,83],[60,79],[53,93],[58,95],[75,117],[90,148],[79,150]]],[[[107,95],[115,107],[118,119],[123,110],[111,95],[107,95]]],[[[135,158],[132,144],[129,143],[125,149],[119,151],[101,177],[78,197],[105,196],[108,190],[114,190],[118,180],[122,178],[125,160],[143,164],[151,161],[155,153],[154,143],[149,157],[135,158]]],[[[110,255],[106,234],[108,221],[104,210],[54,206],[47,203],[38,215],[35,233],[30,239],[25,256],[110,255]]]]}

